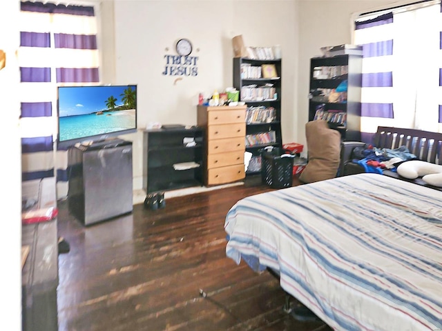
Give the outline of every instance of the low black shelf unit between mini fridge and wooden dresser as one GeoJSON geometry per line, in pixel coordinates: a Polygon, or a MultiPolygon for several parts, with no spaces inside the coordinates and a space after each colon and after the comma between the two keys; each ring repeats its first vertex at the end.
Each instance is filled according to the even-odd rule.
{"type": "Polygon", "coordinates": [[[145,130],[143,137],[143,189],[146,194],[202,186],[202,128],[145,130]],[[195,146],[186,147],[184,138],[195,146]],[[175,170],[175,163],[195,162],[200,166],[175,170]]]}

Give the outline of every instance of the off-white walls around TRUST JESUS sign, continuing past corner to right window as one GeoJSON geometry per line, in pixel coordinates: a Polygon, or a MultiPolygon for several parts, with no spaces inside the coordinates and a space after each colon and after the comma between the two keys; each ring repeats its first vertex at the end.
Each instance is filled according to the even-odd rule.
{"type": "MultiPolygon", "coordinates": [[[[279,44],[282,140],[305,144],[310,58],[320,55],[322,46],[352,42],[354,12],[407,2],[411,1],[103,1],[102,20],[107,26],[102,30],[102,77],[104,83],[137,83],[140,130],[152,121],[194,125],[198,93],[209,96],[215,89],[232,85],[232,37],[242,34],[246,46],[279,44]],[[111,14],[113,17],[106,17],[111,14]],[[175,43],[180,38],[193,43],[197,77],[162,74],[164,55],[176,54],[175,43]]],[[[142,132],[124,138],[133,141],[137,190],[142,188],[142,132]]]]}

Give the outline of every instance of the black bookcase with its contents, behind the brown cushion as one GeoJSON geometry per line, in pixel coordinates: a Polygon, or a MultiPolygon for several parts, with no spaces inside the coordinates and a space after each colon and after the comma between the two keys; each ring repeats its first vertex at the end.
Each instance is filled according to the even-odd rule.
{"type": "Polygon", "coordinates": [[[360,55],[310,59],[309,121],[325,119],[344,141],[361,141],[361,72],[360,55]]]}

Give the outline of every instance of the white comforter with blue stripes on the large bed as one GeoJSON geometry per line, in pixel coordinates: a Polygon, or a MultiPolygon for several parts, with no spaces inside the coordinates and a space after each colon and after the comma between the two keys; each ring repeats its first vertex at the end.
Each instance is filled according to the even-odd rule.
{"type": "Polygon", "coordinates": [[[335,330],[442,330],[441,191],[356,174],[242,199],[224,228],[335,330]]]}

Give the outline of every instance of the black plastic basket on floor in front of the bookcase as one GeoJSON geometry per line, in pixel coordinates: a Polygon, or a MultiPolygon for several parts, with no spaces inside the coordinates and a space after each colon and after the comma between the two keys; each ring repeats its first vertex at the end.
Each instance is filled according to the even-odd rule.
{"type": "Polygon", "coordinates": [[[262,149],[260,153],[262,182],[271,188],[290,188],[295,156],[282,148],[262,149]]]}

